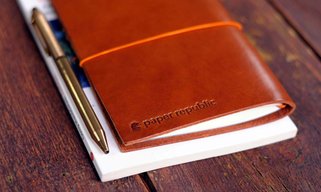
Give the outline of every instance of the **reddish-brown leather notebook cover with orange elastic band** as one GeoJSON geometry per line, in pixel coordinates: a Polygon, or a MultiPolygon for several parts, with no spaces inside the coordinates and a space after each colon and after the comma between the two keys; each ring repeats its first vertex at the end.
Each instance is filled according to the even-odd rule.
{"type": "Polygon", "coordinates": [[[295,108],[217,1],[53,4],[123,152],[268,123],[295,108]],[[273,103],[284,105],[259,119],[144,141],[273,103]]]}

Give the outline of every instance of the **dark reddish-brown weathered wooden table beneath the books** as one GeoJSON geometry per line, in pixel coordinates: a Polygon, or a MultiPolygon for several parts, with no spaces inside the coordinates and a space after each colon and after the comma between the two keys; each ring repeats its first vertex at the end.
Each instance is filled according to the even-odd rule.
{"type": "Polygon", "coordinates": [[[320,2],[221,2],[297,104],[295,139],[102,183],[17,4],[2,0],[0,188],[320,191],[320,2]]]}

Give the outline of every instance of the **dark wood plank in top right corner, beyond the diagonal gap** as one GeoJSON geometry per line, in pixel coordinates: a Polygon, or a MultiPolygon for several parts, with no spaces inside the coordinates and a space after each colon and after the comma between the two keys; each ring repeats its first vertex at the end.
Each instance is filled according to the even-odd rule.
{"type": "Polygon", "coordinates": [[[319,0],[270,1],[321,56],[321,2],[319,0]]]}

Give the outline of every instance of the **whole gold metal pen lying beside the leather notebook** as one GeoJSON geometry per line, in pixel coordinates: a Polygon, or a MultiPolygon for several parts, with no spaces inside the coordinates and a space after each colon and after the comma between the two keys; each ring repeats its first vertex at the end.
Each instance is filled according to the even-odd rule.
{"type": "Polygon", "coordinates": [[[54,32],[49,26],[44,15],[37,9],[32,10],[31,23],[36,31],[36,34],[48,55],[51,55],[56,62],[61,76],[63,77],[66,86],[79,110],[80,115],[91,135],[91,138],[99,145],[105,154],[109,152],[106,135],[102,129],[97,116],[84,92],[80,86],[76,75],[65,52],[61,48],[54,32]]]}

